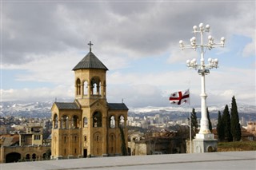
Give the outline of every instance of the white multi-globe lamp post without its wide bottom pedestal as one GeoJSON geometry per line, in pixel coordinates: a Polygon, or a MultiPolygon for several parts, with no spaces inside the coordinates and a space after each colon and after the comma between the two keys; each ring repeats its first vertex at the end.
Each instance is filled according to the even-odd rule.
{"type": "Polygon", "coordinates": [[[202,23],[199,24],[198,26],[193,26],[193,32],[194,34],[200,34],[200,39],[201,43],[196,42],[196,38],[193,37],[190,39],[190,45],[184,45],[183,41],[179,41],[180,48],[181,49],[200,49],[201,53],[201,59],[200,59],[200,64],[197,63],[196,59],[187,60],[186,61],[186,66],[189,67],[190,69],[198,69],[198,74],[201,75],[201,121],[200,121],[200,131],[196,135],[196,139],[214,139],[214,135],[211,134],[209,130],[209,122],[207,118],[207,112],[206,112],[206,80],[205,80],[205,75],[210,73],[210,69],[213,68],[218,68],[218,59],[208,59],[208,64],[205,64],[205,58],[204,55],[206,53],[206,49],[213,49],[214,47],[220,46],[224,47],[225,44],[225,38],[221,38],[220,43],[215,43],[214,38],[209,35],[208,36],[208,42],[203,43],[203,34],[204,33],[209,33],[210,32],[210,26],[206,25],[204,26],[202,23]]]}

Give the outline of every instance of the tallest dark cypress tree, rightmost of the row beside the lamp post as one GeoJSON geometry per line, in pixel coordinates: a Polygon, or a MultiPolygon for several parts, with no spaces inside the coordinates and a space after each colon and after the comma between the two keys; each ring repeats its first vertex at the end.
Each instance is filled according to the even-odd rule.
{"type": "Polygon", "coordinates": [[[230,114],[231,114],[230,128],[233,136],[233,141],[239,141],[241,140],[241,126],[239,124],[238,106],[234,97],[232,97],[230,114]]]}

